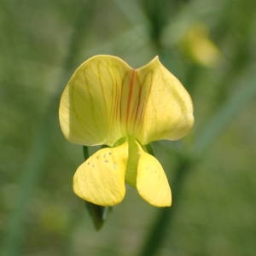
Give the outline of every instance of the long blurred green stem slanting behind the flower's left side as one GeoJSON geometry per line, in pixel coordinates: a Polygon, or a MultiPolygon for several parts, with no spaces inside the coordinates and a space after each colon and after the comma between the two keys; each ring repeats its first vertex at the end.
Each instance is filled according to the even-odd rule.
{"type": "MultiPolygon", "coordinates": [[[[24,220],[26,212],[29,207],[29,202],[32,199],[33,191],[36,189],[38,181],[40,180],[43,166],[46,157],[49,154],[51,143],[51,134],[57,127],[55,124],[55,106],[59,102],[59,96],[63,88],[64,81],[67,82],[67,74],[73,67],[75,56],[79,49],[80,39],[84,38],[81,28],[86,24],[88,17],[84,15],[84,2],[80,1],[79,15],[75,20],[74,32],[70,38],[69,48],[67,50],[67,57],[63,61],[64,71],[61,76],[59,90],[52,97],[49,108],[45,112],[42,125],[38,131],[32,144],[31,152],[27,157],[26,164],[20,177],[20,194],[15,198],[15,210],[10,212],[7,225],[7,232],[3,241],[3,256],[16,256],[20,255],[20,246],[25,238],[26,226],[24,220]]],[[[88,23],[88,22],[87,22],[88,23]]]]}

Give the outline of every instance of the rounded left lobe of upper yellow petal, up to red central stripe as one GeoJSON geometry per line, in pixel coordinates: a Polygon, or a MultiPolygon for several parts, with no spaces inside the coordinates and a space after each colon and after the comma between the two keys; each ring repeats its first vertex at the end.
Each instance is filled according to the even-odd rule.
{"type": "Polygon", "coordinates": [[[67,140],[113,146],[124,137],[122,91],[131,73],[125,61],[111,55],[96,55],[80,65],[61,96],[59,117],[67,140]]]}

